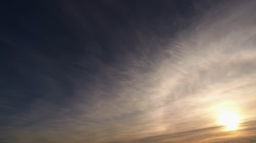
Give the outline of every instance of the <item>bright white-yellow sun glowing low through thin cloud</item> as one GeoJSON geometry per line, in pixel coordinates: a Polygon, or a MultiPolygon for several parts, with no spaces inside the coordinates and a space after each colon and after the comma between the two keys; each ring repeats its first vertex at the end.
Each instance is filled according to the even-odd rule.
{"type": "Polygon", "coordinates": [[[240,122],[240,116],[233,111],[223,110],[219,115],[219,123],[226,126],[227,131],[237,130],[240,122]]]}

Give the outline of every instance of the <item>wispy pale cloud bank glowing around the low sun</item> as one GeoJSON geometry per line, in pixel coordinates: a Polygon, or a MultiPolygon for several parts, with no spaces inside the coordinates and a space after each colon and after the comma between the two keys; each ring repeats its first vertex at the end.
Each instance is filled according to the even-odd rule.
{"type": "Polygon", "coordinates": [[[81,56],[70,62],[76,73],[60,76],[68,77],[42,74],[51,85],[47,96],[12,117],[6,142],[252,142],[253,6],[214,5],[174,38],[165,38],[167,44],[149,32],[138,36],[134,51],[113,55],[113,63],[81,56]],[[67,80],[70,94],[61,99],[67,80]],[[225,132],[218,125],[222,107],[243,117],[240,130],[225,132]]]}

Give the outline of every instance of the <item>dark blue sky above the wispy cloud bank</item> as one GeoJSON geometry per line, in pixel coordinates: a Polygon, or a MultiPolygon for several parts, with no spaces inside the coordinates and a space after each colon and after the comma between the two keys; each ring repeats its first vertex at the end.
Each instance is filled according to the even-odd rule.
{"type": "Polygon", "coordinates": [[[195,13],[190,1],[1,2],[2,112],[23,112],[37,98],[65,101],[73,94],[71,77],[97,74],[94,58],[118,66],[128,51],[140,50],[137,33],[172,37],[195,13]],[[49,80],[62,92],[49,94],[49,80]]]}

